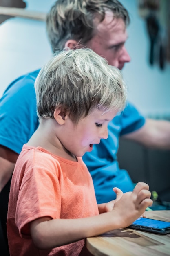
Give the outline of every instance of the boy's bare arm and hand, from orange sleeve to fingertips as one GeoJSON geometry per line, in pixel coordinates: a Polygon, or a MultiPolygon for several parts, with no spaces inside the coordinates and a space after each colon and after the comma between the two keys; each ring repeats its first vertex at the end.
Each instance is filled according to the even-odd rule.
{"type": "Polygon", "coordinates": [[[79,219],[39,218],[30,224],[31,237],[40,249],[54,248],[77,240],[128,227],[152,205],[148,185],[139,182],[133,192],[122,195],[115,188],[117,199],[112,211],[79,219]]]}

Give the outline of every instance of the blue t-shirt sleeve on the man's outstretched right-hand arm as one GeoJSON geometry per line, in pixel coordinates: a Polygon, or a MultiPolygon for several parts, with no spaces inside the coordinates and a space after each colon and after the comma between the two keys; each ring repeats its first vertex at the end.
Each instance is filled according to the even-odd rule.
{"type": "Polygon", "coordinates": [[[122,129],[120,135],[126,135],[141,128],[145,123],[145,118],[132,103],[128,102],[122,112],[121,122],[122,129]]]}

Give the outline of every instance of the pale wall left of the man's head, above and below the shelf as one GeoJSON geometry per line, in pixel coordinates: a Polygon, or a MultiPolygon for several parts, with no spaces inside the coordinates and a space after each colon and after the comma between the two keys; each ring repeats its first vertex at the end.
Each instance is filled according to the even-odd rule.
{"type": "MultiPolygon", "coordinates": [[[[27,0],[26,9],[49,11],[54,0],[27,0]]],[[[45,22],[11,18],[0,25],[0,96],[18,76],[41,68],[52,56],[45,22]]]]}

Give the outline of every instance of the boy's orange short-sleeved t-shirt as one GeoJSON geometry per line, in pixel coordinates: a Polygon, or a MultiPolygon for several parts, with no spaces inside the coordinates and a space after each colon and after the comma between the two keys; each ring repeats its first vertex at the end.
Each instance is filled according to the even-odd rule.
{"type": "Polygon", "coordinates": [[[84,239],[40,250],[32,242],[29,222],[98,215],[93,181],[81,157],[73,162],[44,148],[24,145],[13,172],[9,195],[7,234],[11,256],[77,256],[84,239]]]}

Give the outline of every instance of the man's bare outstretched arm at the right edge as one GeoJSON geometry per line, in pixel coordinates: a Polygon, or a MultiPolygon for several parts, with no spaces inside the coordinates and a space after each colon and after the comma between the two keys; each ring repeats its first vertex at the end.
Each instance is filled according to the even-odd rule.
{"type": "Polygon", "coordinates": [[[150,148],[170,149],[170,122],[146,119],[144,126],[122,137],[150,148]]]}

